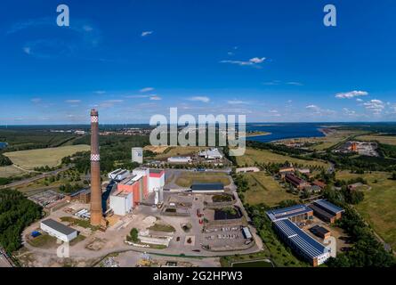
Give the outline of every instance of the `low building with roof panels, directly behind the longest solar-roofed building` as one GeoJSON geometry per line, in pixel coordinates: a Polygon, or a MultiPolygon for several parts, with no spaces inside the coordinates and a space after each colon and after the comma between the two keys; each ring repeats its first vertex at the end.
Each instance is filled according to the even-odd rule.
{"type": "Polygon", "coordinates": [[[297,223],[311,219],[313,217],[313,211],[305,205],[295,205],[288,208],[269,210],[267,211],[267,216],[270,217],[272,222],[281,219],[290,219],[297,223]]]}

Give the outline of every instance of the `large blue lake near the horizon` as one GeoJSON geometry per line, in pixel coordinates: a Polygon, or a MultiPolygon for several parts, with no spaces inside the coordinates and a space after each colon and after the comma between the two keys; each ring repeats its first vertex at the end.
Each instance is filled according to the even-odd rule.
{"type": "Polygon", "coordinates": [[[249,141],[273,142],[300,137],[323,137],[319,131],[322,125],[317,124],[246,124],[246,132],[267,132],[268,135],[248,137],[249,141]]]}

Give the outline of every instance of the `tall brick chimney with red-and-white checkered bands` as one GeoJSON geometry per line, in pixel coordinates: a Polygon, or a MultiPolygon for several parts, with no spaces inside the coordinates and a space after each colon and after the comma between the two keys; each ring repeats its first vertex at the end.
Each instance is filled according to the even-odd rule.
{"type": "Polygon", "coordinates": [[[101,156],[99,154],[99,116],[91,110],[91,224],[101,225],[101,156]]]}

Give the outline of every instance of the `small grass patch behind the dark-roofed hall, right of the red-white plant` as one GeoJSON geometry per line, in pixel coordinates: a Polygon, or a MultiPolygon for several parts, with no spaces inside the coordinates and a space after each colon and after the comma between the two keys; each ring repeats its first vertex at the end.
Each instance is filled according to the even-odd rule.
{"type": "Polygon", "coordinates": [[[223,183],[224,186],[230,184],[230,178],[225,173],[193,173],[183,172],[177,177],[175,183],[181,187],[190,187],[192,183],[223,183]]]}

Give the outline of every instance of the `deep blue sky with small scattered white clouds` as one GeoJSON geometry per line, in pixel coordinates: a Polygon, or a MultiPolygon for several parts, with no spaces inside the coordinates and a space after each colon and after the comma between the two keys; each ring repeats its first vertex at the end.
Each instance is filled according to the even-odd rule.
{"type": "Polygon", "coordinates": [[[396,3],[4,1],[4,124],[148,123],[154,114],[250,122],[396,120],[396,3]],[[117,3],[117,4],[114,4],[117,3]],[[337,27],[323,25],[335,4],[337,27]]]}

